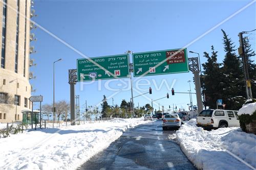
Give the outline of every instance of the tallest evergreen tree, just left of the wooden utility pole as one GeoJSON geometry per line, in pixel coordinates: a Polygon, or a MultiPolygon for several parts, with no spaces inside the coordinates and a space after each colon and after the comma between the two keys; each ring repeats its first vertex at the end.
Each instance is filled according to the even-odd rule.
{"type": "Polygon", "coordinates": [[[224,44],[224,51],[226,52],[224,61],[223,61],[223,76],[225,79],[224,82],[224,89],[223,90],[223,101],[226,104],[226,109],[233,109],[237,110],[241,108],[242,104],[241,99],[236,101],[238,96],[245,97],[246,94],[244,92],[244,75],[242,70],[242,64],[239,60],[239,57],[235,53],[235,46],[228,35],[225,33],[224,30],[221,30],[223,33],[223,44],[224,44]],[[239,103],[239,105],[237,104],[239,103]],[[236,105],[234,105],[236,103],[236,105]]]}

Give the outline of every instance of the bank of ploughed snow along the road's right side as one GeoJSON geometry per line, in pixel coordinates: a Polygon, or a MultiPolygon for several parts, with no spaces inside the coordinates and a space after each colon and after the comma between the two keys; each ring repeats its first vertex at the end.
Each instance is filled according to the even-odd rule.
{"type": "Polygon", "coordinates": [[[245,170],[251,169],[249,166],[256,167],[256,135],[242,132],[238,127],[205,131],[196,126],[196,119],[190,119],[176,131],[176,140],[199,169],[245,170]]]}

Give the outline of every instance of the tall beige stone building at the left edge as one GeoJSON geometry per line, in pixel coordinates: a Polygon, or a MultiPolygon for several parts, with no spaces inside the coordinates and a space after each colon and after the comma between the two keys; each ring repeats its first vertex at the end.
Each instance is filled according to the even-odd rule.
{"type": "Polygon", "coordinates": [[[22,120],[31,110],[30,0],[0,0],[0,123],[22,120]]]}

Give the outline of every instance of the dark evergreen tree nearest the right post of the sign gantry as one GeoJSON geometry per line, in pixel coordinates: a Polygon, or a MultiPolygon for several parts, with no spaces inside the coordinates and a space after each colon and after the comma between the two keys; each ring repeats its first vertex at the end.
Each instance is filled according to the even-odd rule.
{"type": "Polygon", "coordinates": [[[216,101],[221,97],[222,84],[221,82],[221,73],[220,65],[217,63],[217,53],[214,50],[214,46],[211,46],[211,56],[208,53],[204,52],[204,57],[207,59],[207,62],[203,65],[203,74],[202,82],[204,86],[205,93],[205,105],[211,109],[216,108],[216,101]]]}

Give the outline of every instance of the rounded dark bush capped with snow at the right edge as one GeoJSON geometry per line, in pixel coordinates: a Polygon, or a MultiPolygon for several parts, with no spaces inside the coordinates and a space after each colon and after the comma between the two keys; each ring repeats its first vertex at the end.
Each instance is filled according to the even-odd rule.
{"type": "Polygon", "coordinates": [[[256,134],[256,130],[253,130],[253,128],[256,128],[254,127],[256,125],[256,100],[247,100],[243,107],[239,109],[238,115],[242,130],[256,134]],[[248,127],[251,127],[252,130],[248,130],[248,127]]]}

